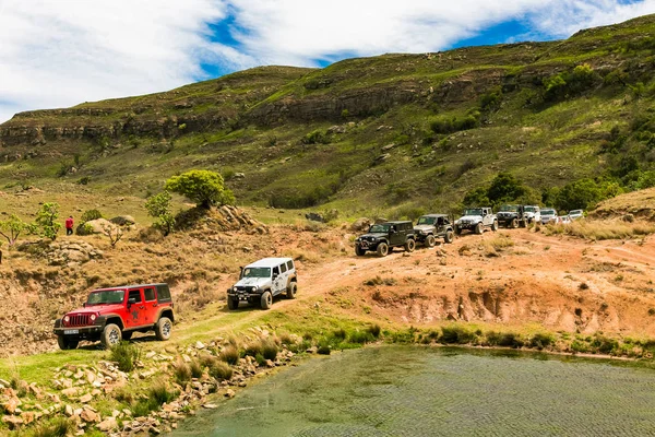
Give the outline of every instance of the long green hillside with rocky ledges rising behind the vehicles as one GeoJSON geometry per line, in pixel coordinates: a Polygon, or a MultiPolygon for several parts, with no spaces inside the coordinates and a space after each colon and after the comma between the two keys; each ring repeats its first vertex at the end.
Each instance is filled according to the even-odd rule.
{"type": "Polygon", "coordinates": [[[22,113],[0,125],[0,189],[145,198],[207,168],[241,203],[412,215],[509,172],[531,199],[557,203],[569,185],[595,202],[655,185],[653,35],[648,15],[562,42],[262,67],[22,113]]]}

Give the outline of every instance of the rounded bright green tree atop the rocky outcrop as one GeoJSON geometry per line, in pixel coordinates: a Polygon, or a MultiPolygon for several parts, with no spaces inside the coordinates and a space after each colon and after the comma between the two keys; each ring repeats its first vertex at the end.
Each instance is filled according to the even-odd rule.
{"type": "Polygon", "coordinates": [[[233,204],[235,194],[225,188],[223,176],[210,170],[190,170],[174,176],[164,187],[168,191],[182,194],[200,208],[209,209],[213,204],[233,204]]]}

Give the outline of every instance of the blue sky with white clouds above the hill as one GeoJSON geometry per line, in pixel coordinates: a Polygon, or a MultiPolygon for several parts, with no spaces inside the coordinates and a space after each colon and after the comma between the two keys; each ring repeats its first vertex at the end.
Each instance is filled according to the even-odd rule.
{"type": "Polygon", "coordinates": [[[655,0],[0,0],[0,122],[262,64],[565,38],[655,0]]]}

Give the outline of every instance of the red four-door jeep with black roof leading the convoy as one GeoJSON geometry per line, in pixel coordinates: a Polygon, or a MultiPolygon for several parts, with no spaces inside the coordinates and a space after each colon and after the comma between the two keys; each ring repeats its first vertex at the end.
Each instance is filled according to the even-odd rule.
{"type": "Polygon", "coordinates": [[[80,340],[111,347],[134,332],[155,331],[157,340],[168,340],[174,320],[168,284],[128,285],[94,290],[83,308],[55,321],[55,333],[62,350],[80,340]]]}

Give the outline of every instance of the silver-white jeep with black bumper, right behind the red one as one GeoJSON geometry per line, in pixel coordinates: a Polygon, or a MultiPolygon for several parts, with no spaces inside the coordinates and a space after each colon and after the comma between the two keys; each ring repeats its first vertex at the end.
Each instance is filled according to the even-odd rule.
{"type": "Polygon", "coordinates": [[[290,258],[263,258],[241,269],[239,281],[227,290],[227,307],[237,309],[239,303],[259,305],[269,309],[273,297],[284,294],[296,298],[298,275],[290,258]]]}

